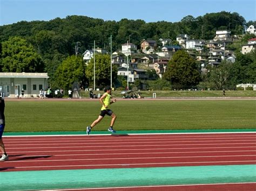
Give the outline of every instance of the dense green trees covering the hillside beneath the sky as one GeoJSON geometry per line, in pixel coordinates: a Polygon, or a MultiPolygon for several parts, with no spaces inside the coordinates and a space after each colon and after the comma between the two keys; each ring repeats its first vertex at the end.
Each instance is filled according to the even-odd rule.
{"type": "MultiPolygon", "coordinates": [[[[78,55],[86,49],[93,48],[93,40],[96,40],[97,47],[106,48],[110,52],[110,35],[112,35],[112,51],[121,49],[121,45],[130,40],[138,46],[143,39],[170,38],[176,40],[178,34],[188,34],[194,39],[210,40],[215,36],[215,31],[220,29],[231,30],[232,34],[242,34],[245,25],[255,25],[255,22],[249,21],[246,23],[244,17],[233,12],[218,12],[207,13],[204,16],[194,18],[186,16],[180,22],[171,23],[159,21],[156,23],[146,23],[144,20],[129,20],[122,19],[118,22],[103,19],[95,19],[86,16],[68,16],[64,19],[55,18],[49,22],[33,21],[33,22],[18,22],[11,25],[0,26],[0,70],[4,72],[47,72],[50,76],[50,83],[57,84],[58,82],[63,87],[68,87],[62,83],[64,79],[65,68],[82,62],[76,60],[78,58],[70,57],[75,54],[75,45],[79,42],[78,55]],[[68,64],[72,63],[72,64],[68,64]],[[58,68],[58,69],[57,69],[58,68]]],[[[245,35],[241,43],[246,43],[250,38],[255,36],[245,35]]],[[[234,51],[240,48],[238,45],[230,45],[234,51]]],[[[237,51],[239,52],[239,51],[237,51]]],[[[167,70],[165,78],[174,82],[179,86],[194,86],[198,82],[198,74],[196,74],[197,64],[193,59],[182,55],[183,59],[187,60],[187,68],[183,66],[186,73],[174,74],[174,69],[167,70]],[[191,63],[189,63],[191,61],[191,63]],[[188,69],[190,68],[190,69],[188,69]],[[193,69],[191,69],[193,68],[193,69]],[[173,71],[172,71],[173,70],[173,71]],[[193,73],[193,75],[192,75],[193,73]],[[196,74],[196,75],[195,75],[196,74]],[[181,77],[179,82],[178,77],[181,77]],[[193,78],[183,79],[184,76],[193,76],[193,78]],[[196,77],[197,76],[197,77],[196,77]],[[176,79],[176,80],[175,80],[176,79]]],[[[110,84],[110,63],[109,58],[97,58],[102,70],[97,74],[97,86],[110,84]],[[104,72],[104,73],[103,73],[104,72]]],[[[174,62],[183,63],[183,60],[174,62]]],[[[174,66],[174,62],[172,65],[174,66]]],[[[185,63],[185,62],[184,62],[185,63]]],[[[237,56],[235,67],[231,70],[235,75],[230,76],[232,84],[235,83],[255,83],[255,56],[240,55],[237,56]]],[[[85,67],[83,65],[83,67],[85,67]]],[[[175,67],[180,67],[176,65],[175,67]]],[[[76,70],[76,69],[75,69],[76,70]]],[[[74,77],[72,74],[71,83],[73,80],[90,79],[92,84],[92,62],[87,69],[80,68],[78,70],[87,70],[85,76],[74,77]]],[[[68,71],[68,69],[66,69],[68,71]]],[[[73,71],[72,69],[70,71],[73,71]]],[[[79,71],[77,71],[79,72],[79,71]]],[[[71,72],[72,73],[72,72],[71,72]]],[[[149,73],[150,74],[150,73],[149,73]]],[[[113,81],[116,79],[116,68],[113,68],[113,81]]],[[[205,79],[210,80],[207,76],[205,79]]],[[[227,84],[231,84],[228,80],[227,84]]],[[[83,83],[83,82],[81,82],[83,83]]],[[[209,82],[210,83],[210,82],[209,82]]],[[[211,83],[213,83],[211,81],[211,83]]],[[[70,85],[69,85],[70,86],[70,85]]],[[[233,85],[232,85],[233,86],[233,85]]]]}

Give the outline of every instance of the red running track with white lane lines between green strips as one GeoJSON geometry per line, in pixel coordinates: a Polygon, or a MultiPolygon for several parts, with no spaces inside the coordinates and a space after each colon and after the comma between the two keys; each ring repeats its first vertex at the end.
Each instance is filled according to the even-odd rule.
{"type": "Polygon", "coordinates": [[[255,133],[4,137],[0,171],[256,164],[255,133]]]}

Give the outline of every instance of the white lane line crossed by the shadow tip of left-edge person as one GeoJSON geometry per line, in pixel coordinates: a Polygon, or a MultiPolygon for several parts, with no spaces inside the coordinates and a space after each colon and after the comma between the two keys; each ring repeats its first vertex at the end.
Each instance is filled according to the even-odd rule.
{"type": "MultiPolygon", "coordinates": [[[[79,150],[83,151],[83,150],[79,150]]],[[[54,151],[52,151],[54,152],[54,151]]],[[[63,151],[63,152],[68,152],[72,153],[74,151],[63,151]]],[[[118,154],[186,154],[186,153],[222,153],[222,152],[256,152],[256,150],[250,150],[250,151],[189,151],[189,152],[137,152],[137,153],[94,153],[94,154],[53,154],[54,157],[58,156],[87,156],[87,155],[118,155],[118,154]]],[[[12,154],[12,152],[8,152],[9,155],[12,154]]],[[[49,155],[40,155],[42,156],[49,156],[49,155]]],[[[16,157],[16,156],[15,156],[16,157]]],[[[38,155],[22,155],[22,156],[17,156],[17,158],[23,158],[23,157],[38,157],[38,155]]],[[[210,157],[210,156],[209,156],[210,157]]]]}

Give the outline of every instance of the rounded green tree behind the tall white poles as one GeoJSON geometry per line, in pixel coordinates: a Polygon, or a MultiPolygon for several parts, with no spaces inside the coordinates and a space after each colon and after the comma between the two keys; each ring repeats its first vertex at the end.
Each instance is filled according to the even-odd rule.
{"type": "MultiPolygon", "coordinates": [[[[110,56],[107,54],[95,55],[95,83],[96,86],[102,87],[110,85],[111,81],[110,56]]],[[[90,84],[94,82],[94,60],[90,60],[86,69],[86,76],[90,84]]],[[[117,67],[112,65],[112,82],[117,79],[117,67]]]]}

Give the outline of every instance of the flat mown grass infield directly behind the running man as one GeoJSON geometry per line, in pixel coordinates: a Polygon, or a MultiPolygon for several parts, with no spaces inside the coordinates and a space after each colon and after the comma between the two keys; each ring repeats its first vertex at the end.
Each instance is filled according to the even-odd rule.
{"type": "MultiPolygon", "coordinates": [[[[6,101],[5,132],[83,131],[95,120],[95,101],[6,101]]],[[[255,100],[119,100],[111,109],[116,130],[256,128],[255,100]]],[[[94,130],[106,130],[106,116],[94,130]]]]}

